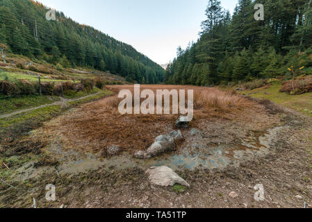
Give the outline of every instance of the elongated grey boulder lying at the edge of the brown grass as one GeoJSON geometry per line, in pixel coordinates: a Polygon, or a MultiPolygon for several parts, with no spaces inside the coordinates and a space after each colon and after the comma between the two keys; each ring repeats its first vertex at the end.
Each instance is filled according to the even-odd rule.
{"type": "Polygon", "coordinates": [[[154,143],[147,148],[146,151],[137,151],[133,157],[138,159],[148,159],[161,155],[162,153],[170,152],[175,150],[176,142],[183,139],[181,131],[172,131],[166,135],[160,135],[156,137],[154,143]]]}

